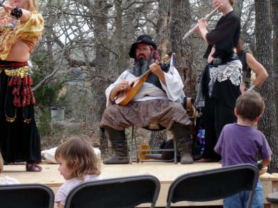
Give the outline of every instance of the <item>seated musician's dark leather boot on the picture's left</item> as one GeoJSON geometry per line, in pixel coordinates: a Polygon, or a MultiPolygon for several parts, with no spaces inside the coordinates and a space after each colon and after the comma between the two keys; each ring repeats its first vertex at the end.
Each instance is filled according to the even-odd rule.
{"type": "Polygon", "coordinates": [[[105,131],[111,141],[115,155],[104,160],[104,164],[129,164],[129,155],[127,153],[124,130],[119,131],[106,127],[105,131]]]}

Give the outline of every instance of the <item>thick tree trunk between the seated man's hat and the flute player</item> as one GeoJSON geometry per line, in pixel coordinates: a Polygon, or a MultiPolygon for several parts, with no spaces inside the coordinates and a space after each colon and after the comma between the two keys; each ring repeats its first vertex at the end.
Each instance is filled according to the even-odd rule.
{"type": "Polygon", "coordinates": [[[193,66],[193,50],[190,37],[183,35],[190,29],[190,3],[188,0],[171,0],[170,40],[172,52],[177,55],[176,68],[185,85],[186,96],[195,97],[196,70],[193,66]]]}

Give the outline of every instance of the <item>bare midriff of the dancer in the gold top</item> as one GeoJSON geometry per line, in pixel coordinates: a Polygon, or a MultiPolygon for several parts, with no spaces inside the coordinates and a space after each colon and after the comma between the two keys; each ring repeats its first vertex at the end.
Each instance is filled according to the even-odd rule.
{"type": "Polygon", "coordinates": [[[30,58],[30,49],[21,40],[17,40],[10,49],[10,53],[6,58],[7,61],[26,62],[30,58]]]}

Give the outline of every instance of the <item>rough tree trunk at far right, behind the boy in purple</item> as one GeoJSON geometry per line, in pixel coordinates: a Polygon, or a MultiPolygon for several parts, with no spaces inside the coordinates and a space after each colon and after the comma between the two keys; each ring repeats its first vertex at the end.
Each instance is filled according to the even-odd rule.
{"type": "Polygon", "coordinates": [[[270,148],[273,151],[272,162],[269,171],[277,172],[277,117],[275,100],[273,99],[274,92],[274,70],[272,68],[272,26],[270,21],[270,0],[255,0],[256,10],[256,59],[263,64],[268,71],[269,78],[265,85],[261,87],[261,94],[265,98],[265,112],[262,120],[259,123],[259,128],[268,139],[270,148]]]}

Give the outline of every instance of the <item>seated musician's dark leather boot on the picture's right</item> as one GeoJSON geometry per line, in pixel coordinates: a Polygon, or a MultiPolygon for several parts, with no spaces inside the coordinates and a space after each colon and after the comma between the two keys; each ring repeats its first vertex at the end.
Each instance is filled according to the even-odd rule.
{"type": "Polygon", "coordinates": [[[193,164],[193,139],[190,135],[189,127],[180,123],[174,123],[171,130],[177,142],[177,148],[181,156],[181,164],[193,164]]]}

